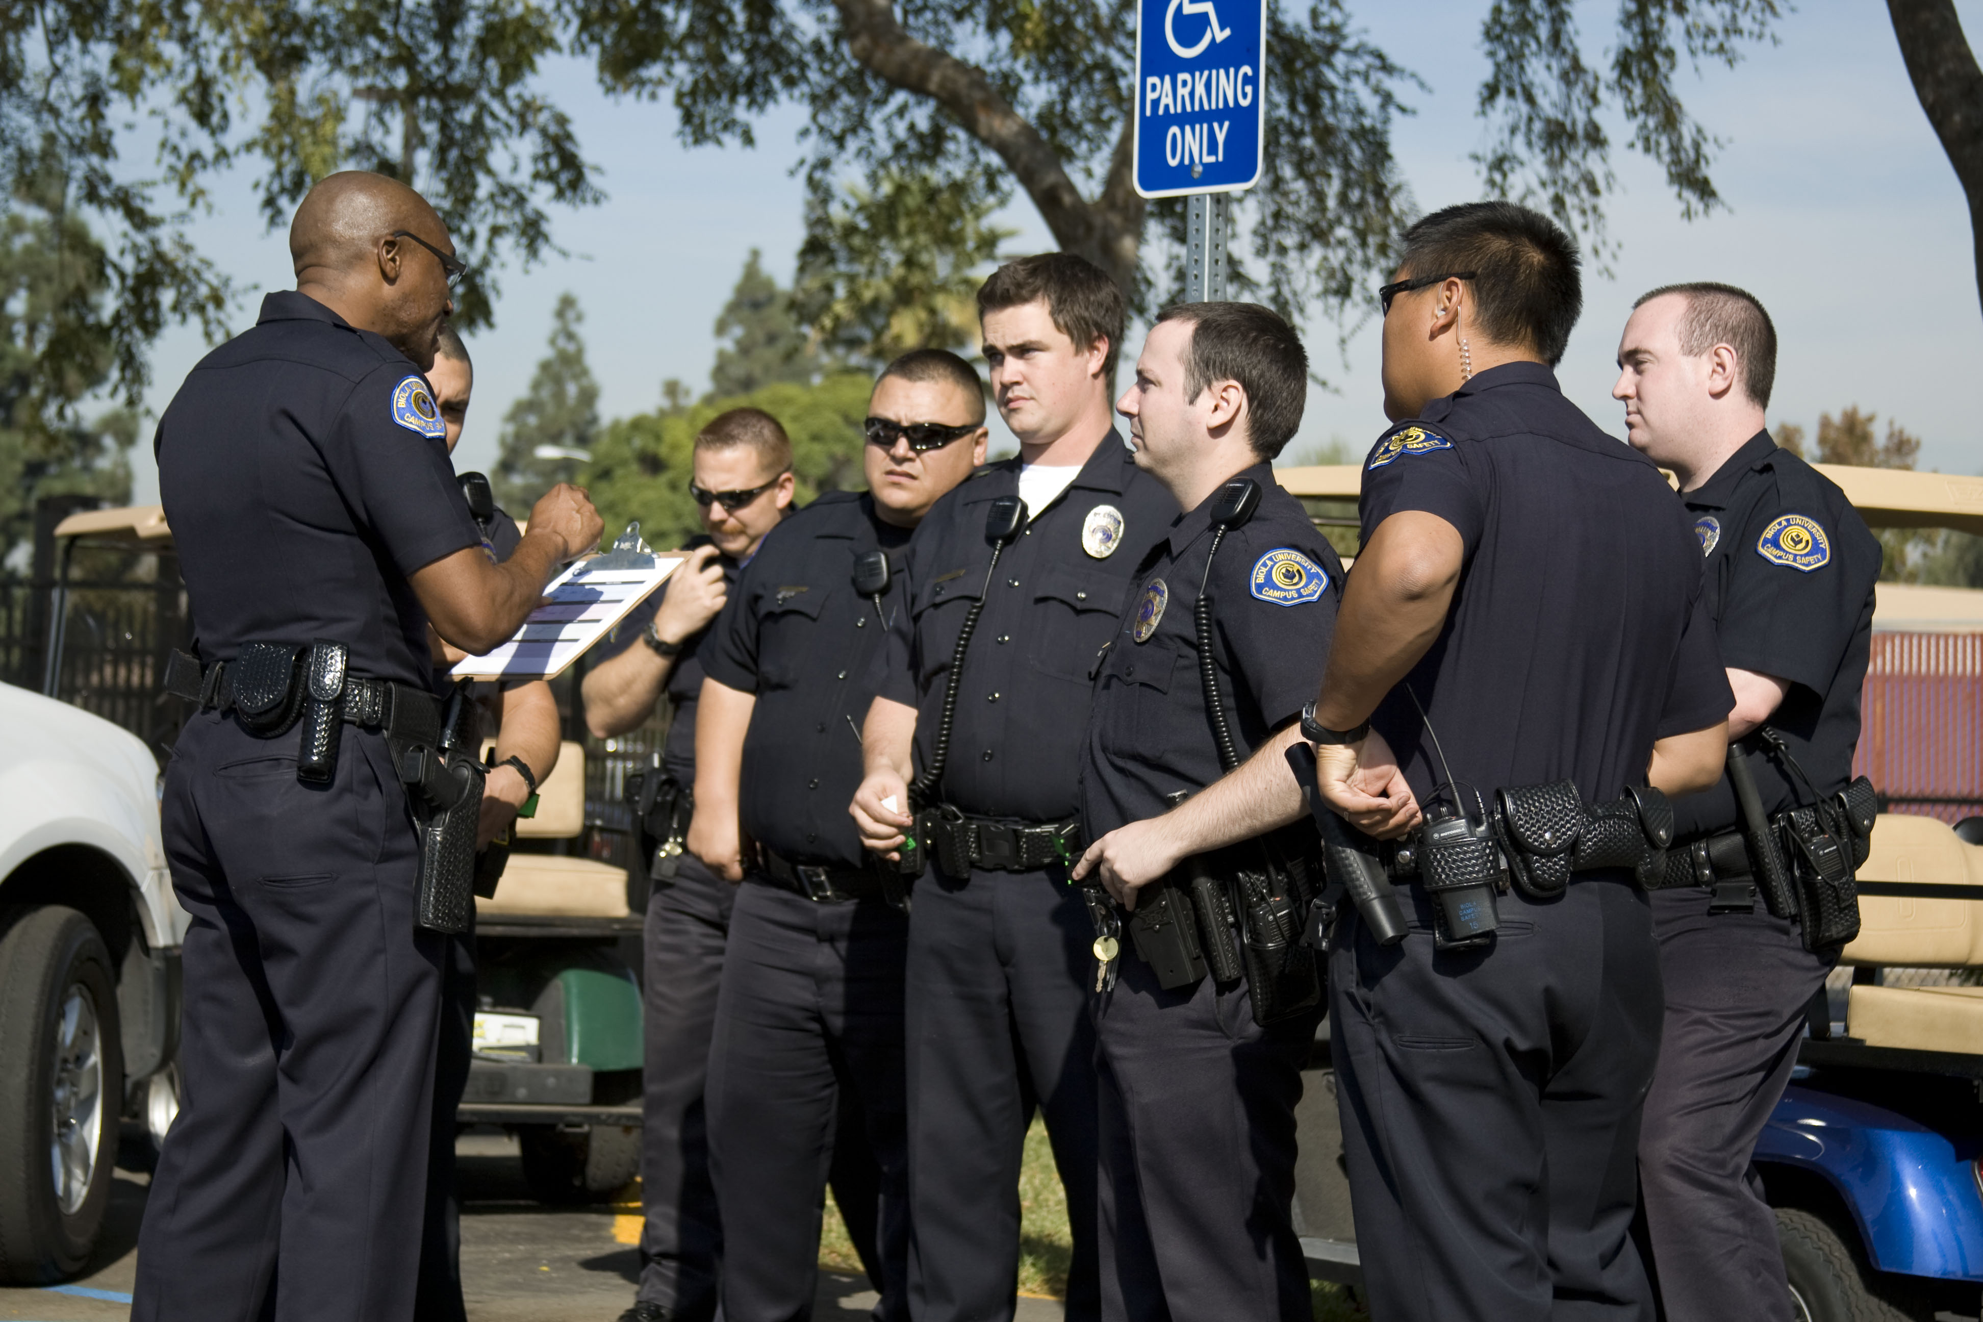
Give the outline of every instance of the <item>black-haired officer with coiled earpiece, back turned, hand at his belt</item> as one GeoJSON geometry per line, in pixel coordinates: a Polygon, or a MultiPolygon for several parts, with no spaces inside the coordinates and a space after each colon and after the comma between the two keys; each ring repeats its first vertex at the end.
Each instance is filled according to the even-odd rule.
{"type": "Polygon", "coordinates": [[[1662,999],[1634,878],[1666,834],[1648,783],[1713,783],[1731,696],[1666,482],[1547,367],[1576,266],[1555,222],[1511,202],[1406,232],[1382,291],[1398,424],[1364,462],[1362,549],[1303,721],[1323,801],[1408,846],[1402,939],[1344,906],[1329,955],[1356,1245],[1384,1318],[1652,1310],[1628,1231],[1662,999]],[[1509,817],[1565,795],[1578,848],[1586,830],[1612,846],[1551,852],[1553,826],[1509,817]]]}

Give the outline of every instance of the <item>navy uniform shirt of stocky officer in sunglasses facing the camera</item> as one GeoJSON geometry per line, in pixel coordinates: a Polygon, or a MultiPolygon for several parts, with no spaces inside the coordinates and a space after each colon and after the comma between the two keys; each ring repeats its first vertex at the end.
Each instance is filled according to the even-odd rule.
{"type": "Polygon", "coordinates": [[[855,597],[863,551],[890,551],[882,616],[900,610],[898,547],[908,531],[875,517],[875,499],[829,492],[773,527],[738,575],[702,646],[712,680],[758,706],[744,735],[744,830],[803,864],[867,864],[847,815],[861,787],[861,723],[875,702],[886,632],[875,601],[855,597]]]}

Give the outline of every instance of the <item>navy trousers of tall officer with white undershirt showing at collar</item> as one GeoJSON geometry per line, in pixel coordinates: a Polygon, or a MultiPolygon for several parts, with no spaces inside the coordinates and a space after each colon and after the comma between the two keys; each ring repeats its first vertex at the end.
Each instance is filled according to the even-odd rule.
{"type": "Polygon", "coordinates": [[[1067,1316],[1095,1270],[1095,928],[1065,870],[940,872],[908,924],[908,1199],[916,1322],[1011,1318],[1019,1163],[1039,1108],[1067,1189],[1067,1316]]]}

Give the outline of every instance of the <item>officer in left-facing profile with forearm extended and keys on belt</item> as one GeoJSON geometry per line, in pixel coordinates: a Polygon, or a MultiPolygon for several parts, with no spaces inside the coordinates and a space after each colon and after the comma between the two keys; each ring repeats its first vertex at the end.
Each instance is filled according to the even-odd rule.
{"type": "MultiPolygon", "coordinates": [[[[1132,910],[1194,860],[1243,912],[1237,870],[1269,852],[1287,862],[1289,832],[1259,836],[1289,826],[1301,799],[1283,795],[1279,815],[1263,819],[1253,787],[1265,771],[1293,789],[1287,763],[1237,759],[1293,729],[1337,620],[1342,563],[1269,468],[1301,422],[1307,367],[1295,331],[1269,309],[1190,303],[1158,315],[1116,404],[1136,466],[1184,507],[1136,567],[1081,753],[1095,844],[1075,878],[1093,874],[1132,910]],[[1247,486],[1257,509],[1227,525],[1222,501],[1247,486]]],[[[1194,926],[1202,949],[1229,951],[1237,977],[1224,977],[1212,953],[1196,975],[1168,973],[1128,934],[1093,947],[1097,989],[1107,987],[1095,1015],[1103,1316],[1305,1320],[1295,1104],[1323,1017],[1315,953],[1295,949],[1307,965],[1303,1001],[1257,1005],[1267,993],[1245,975],[1231,922],[1200,916],[1194,926]]]]}

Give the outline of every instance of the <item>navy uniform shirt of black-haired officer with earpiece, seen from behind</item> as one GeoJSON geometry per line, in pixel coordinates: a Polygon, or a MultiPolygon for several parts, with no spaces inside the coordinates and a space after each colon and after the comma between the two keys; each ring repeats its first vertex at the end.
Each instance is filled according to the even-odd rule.
{"type": "Polygon", "coordinates": [[[1541,363],[1487,369],[1384,434],[1364,462],[1364,543],[1406,509],[1463,543],[1440,636],[1370,717],[1420,803],[1446,773],[1406,686],[1454,777],[1489,803],[1563,779],[1608,803],[1644,783],[1654,739],[1727,717],[1686,511],[1541,363]]]}

